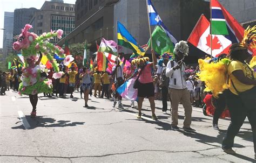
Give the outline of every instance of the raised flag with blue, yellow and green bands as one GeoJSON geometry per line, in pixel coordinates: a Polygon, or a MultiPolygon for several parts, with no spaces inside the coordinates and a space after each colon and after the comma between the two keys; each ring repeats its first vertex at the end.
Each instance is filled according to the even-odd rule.
{"type": "Polygon", "coordinates": [[[132,51],[139,55],[144,55],[145,51],[139,46],[136,39],[126,30],[124,25],[117,21],[117,44],[130,48],[132,51]]]}

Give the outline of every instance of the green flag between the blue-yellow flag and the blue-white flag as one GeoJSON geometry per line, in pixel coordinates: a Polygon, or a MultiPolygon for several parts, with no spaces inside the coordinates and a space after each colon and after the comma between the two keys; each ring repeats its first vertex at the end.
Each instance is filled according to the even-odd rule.
{"type": "MultiPolygon", "coordinates": [[[[173,52],[174,48],[172,41],[160,26],[156,26],[156,28],[152,32],[152,42],[154,51],[156,51],[160,55],[164,54],[165,52],[173,52]]],[[[151,46],[150,40],[147,45],[149,45],[149,47],[151,46]]]]}

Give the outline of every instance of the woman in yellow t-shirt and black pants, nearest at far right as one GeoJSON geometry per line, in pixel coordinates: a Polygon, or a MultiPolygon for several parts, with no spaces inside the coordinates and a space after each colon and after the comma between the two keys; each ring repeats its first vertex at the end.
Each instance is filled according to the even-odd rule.
{"type": "Polygon", "coordinates": [[[248,117],[252,126],[254,152],[256,157],[256,80],[245,60],[248,58],[247,46],[233,44],[230,47],[230,59],[228,65],[228,84],[230,89],[226,91],[227,107],[230,110],[231,123],[228,126],[226,136],[222,143],[224,152],[235,154],[232,150],[234,137],[248,117]],[[244,98],[244,95],[247,95],[244,98]]]}

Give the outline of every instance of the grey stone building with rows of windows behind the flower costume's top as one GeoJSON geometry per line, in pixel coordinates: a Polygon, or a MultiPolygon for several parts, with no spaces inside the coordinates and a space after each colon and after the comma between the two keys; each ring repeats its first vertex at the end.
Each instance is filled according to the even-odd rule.
{"type": "MultiPolygon", "coordinates": [[[[45,1],[39,11],[30,20],[32,31],[40,35],[50,30],[63,30],[63,37],[75,29],[75,4],[45,1]]],[[[50,40],[52,43],[59,39],[50,40]]]]}

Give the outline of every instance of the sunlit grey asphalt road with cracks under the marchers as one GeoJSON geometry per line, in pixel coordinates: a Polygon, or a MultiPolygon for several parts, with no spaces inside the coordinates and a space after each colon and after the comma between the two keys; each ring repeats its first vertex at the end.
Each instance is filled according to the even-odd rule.
{"type": "MultiPolygon", "coordinates": [[[[130,101],[124,109],[112,108],[112,101],[91,97],[84,100],[48,98],[39,95],[37,117],[30,118],[28,96],[7,91],[0,96],[0,162],[256,162],[251,126],[242,125],[235,138],[237,155],[221,150],[230,121],[220,119],[220,130],[212,129],[212,117],[193,108],[192,128],[196,133],[172,131],[171,115],[161,112],[151,119],[149,101],[143,104],[143,119],[130,101]]],[[[179,127],[184,109],[179,106],[179,127]]],[[[170,108],[170,104],[169,104],[170,108]]]]}

